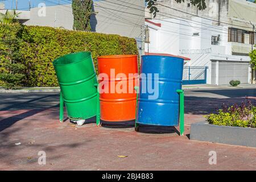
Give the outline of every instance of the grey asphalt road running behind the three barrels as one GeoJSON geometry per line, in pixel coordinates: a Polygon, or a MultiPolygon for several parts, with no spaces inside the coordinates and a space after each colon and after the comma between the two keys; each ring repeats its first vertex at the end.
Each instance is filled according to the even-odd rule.
{"type": "MultiPolygon", "coordinates": [[[[186,102],[201,101],[207,106],[209,101],[235,101],[237,98],[256,97],[256,89],[191,89],[185,90],[186,102]]],[[[59,93],[1,93],[0,111],[19,109],[47,109],[59,106],[59,93]]],[[[187,111],[189,111],[189,107],[187,111]]],[[[196,105],[192,108],[195,109],[196,105]]]]}

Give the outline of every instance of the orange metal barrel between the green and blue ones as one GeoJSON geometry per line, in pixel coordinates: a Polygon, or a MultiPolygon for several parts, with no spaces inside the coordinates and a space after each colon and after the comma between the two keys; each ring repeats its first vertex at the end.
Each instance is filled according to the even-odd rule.
{"type": "Polygon", "coordinates": [[[138,56],[100,56],[98,74],[101,119],[112,122],[135,119],[138,56]]]}

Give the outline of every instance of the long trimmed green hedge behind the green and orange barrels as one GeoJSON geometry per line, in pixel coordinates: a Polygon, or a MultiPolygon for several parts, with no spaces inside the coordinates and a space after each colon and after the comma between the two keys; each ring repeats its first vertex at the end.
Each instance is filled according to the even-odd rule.
{"type": "MultiPolygon", "coordinates": [[[[52,61],[59,56],[77,51],[90,51],[97,69],[97,57],[101,55],[138,54],[135,39],[119,35],[95,32],[60,30],[51,27],[0,24],[0,64],[6,59],[7,49],[3,38],[8,34],[19,36],[18,59],[24,64],[22,86],[57,86],[52,61]],[[17,32],[18,30],[18,32],[17,32]]],[[[4,71],[1,68],[0,71],[4,71]]],[[[0,81],[1,84],[1,81],[0,81]]]]}

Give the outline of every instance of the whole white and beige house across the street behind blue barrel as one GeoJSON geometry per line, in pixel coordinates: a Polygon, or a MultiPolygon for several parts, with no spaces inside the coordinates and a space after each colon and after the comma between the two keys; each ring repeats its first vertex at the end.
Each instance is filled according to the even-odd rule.
{"type": "Polygon", "coordinates": [[[225,0],[218,4],[219,1],[208,0],[208,10],[201,14],[187,3],[159,3],[164,6],[158,6],[158,16],[145,22],[146,52],[189,57],[183,74],[187,84],[251,82],[249,52],[256,44],[252,26],[256,24],[255,3],[225,0]],[[170,11],[168,7],[174,9],[170,11]],[[216,15],[212,15],[210,7],[217,8],[216,15]]]}

